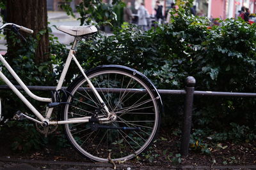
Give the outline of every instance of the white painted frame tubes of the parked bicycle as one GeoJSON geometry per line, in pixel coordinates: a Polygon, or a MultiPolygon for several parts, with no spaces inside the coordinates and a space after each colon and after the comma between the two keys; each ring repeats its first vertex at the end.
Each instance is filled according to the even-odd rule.
{"type": "MultiPolygon", "coordinates": [[[[67,57],[67,60],[65,62],[65,66],[63,67],[63,71],[61,73],[60,80],[58,81],[58,85],[56,87],[56,90],[61,89],[61,87],[63,85],[63,81],[65,80],[65,76],[66,76],[67,71],[68,71],[68,67],[70,66],[71,60],[73,59],[76,62],[77,67],[79,67],[79,70],[83,74],[84,78],[86,79],[86,81],[90,85],[90,88],[92,89],[93,93],[99,99],[99,102],[101,104],[103,104],[104,110],[106,110],[106,113],[108,113],[108,117],[99,118],[99,121],[100,122],[104,122],[104,121],[108,122],[109,118],[111,117],[111,113],[109,113],[108,107],[106,106],[106,104],[104,104],[104,101],[102,100],[102,97],[100,97],[99,93],[97,92],[97,90],[93,86],[92,82],[88,79],[88,77],[84,73],[83,67],[81,67],[81,65],[77,61],[76,56],[74,55],[74,53],[76,53],[74,51],[74,48],[76,47],[76,44],[77,44],[77,38],[75,37],[72,48],[70,48],[70,51],[68,53],[68,57],[67,57]]],[[[42,102],[47,102],[47,103],[52,102],[51,98],[39,97],[39,96],[36,96],[35,94],[33,94],[28,89],[28,87],[23,83],[23,81],[19,78],[19,76],[15,73],[15,71],[13,71],[12,67],[8,64],[8,62],[6,62],[6,60],[4,59],[4,57],[1,54],[0,54],[0,60],[1,60],[1,62],[3,62],[4,66],[8,69],[8,71],[12,74],[12,76],[15,78],[15,80],[19,83],[19,85],[22,87],[22,89],[24,89],[24,91],[31,98],[35,99],[36,101],[42,101],[42,102]]],[[[13,92],[23,101],[23,103],[26,104],[26,106],[28,106],[28,108],[36,115],[36,117],[39,118],[40,121],[36,120],[35,118],[31,118],[28,115],[23,114],[23,116],[28,118],[29,120],[33,120],[34,122],[36,122],[38,124],[43,124],[45,122],[47,123],[47,125],[82,123],[82,122],[89,122],[89,119],[91,118],[91,117],[82,117],[82,118],[72,118],[70,120],[50,121],[52,111],[53,111],[54,108],[47,108],[46,117],[43,117],[42,114],[38,110],[36,110],[36,108],[31,103],[29,103],[28,99],[26,99],[26,97],[24,97],[20,93],[20,91],[13,85],[13,83],[10,80],[8,80],[8,78],[6,78],[6,76],[4,76],[4,74],[1,72],[1,70],[0,70],[0,78],[6,83],[6,85],[8,85],[8,87],[10,87],[10,89],[13,90],[13,92]]],[[[0,108],[0,110],[1,110],[1,108],[0,108]]]]}

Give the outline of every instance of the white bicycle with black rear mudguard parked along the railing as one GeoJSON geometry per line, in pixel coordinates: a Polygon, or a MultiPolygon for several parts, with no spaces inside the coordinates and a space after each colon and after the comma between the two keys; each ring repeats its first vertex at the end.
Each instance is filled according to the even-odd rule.
{"type": "MultiPolygon", "coordinates": [[[[0,30],[6,28],[17,33],[19,30],[33,33],[31,29],[12,23],[2,25],[0,30]]],[[[76,59],[75,48],[78,41],[92,36],[97,28],[93,25],[60,26],[58,30],[74,36],[74,42],[51,98],[33,94],[0,54],[3,65],[29,97],[47,103],[44,116],[0,71],[0,78],[36,116],[17,111],[13,118],[36,122],[44,134],[56,129],[51,127],[63,124],[70,144],[91,160],[125,161],[136,157],[150,146],[159,129],[162,102],[156,87],[146,76],[125,66],[107,65],[84,71],[76,59]],[[72,60],[81,75],[64,90],[61,87],[72,60]],[[52,116],[57,108],[61,110],[58,119],[52,116]]]]}

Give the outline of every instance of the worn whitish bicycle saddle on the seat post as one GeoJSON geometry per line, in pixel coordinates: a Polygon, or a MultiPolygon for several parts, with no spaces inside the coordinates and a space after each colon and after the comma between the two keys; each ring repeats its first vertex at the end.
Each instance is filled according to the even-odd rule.
{"type": "Polygon", "coordinates": [[[92,34],[97,32],[97,28],[93,25],[84,26],[65,26],[60,25],[57,27],[58,30],[70,34],[71,36],[85,36],[86,34],[92,34]]]}

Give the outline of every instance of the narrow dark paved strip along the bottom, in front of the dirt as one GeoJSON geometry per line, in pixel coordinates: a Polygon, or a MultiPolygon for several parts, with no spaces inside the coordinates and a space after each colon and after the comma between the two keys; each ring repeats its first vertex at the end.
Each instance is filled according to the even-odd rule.
{"type": "MultiPolygon", "coordinates": [[[[66,162],[66,161],[51,161],[51,160],[28,160],[28,159],[11,159],[0,157],[0,169],[16,170],[16,169],[65,169],[65,170],[110,170],[113,169],[112,164],[104,163],[91,163],[91,162],[66,162]]],[[[150,170],[150,169],[256,169],[256,165],[247,166],[170,166],[170,167],[159,167],[159,166],[141,166],[140,164],[118,164],[116,169],[127,169],[127,170],[150,170]]]]}

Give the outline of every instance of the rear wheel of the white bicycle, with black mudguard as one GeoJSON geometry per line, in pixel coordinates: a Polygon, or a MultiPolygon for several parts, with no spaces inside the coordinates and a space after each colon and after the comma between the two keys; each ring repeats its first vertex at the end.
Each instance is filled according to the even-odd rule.
{"type": "MultiPolygon", "coordinates": [[[[104,128],[97,131],[92,131],[91,123],[66,124],[70,143],[85,157],[99,162],[128,160],[143,152],[154,141],[160,124],[162,104],[154,85],[143,74],[124,66],[96,67],[86,75],[116,120],[100,124],[104,128]]],[[[83,76],[67,90],[73,101],[64,107],[63,120],[91,117],[100,107],[83,76]]],[[[102,109],[98,117],[106,117],[106,111],[102,109]]]]}

